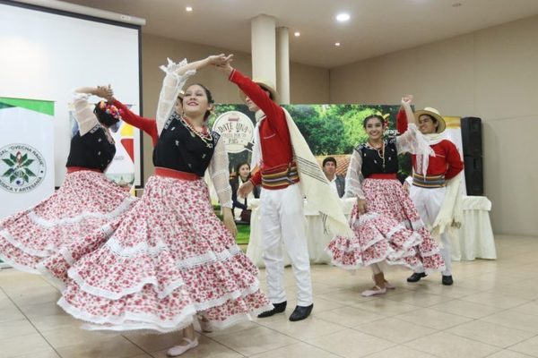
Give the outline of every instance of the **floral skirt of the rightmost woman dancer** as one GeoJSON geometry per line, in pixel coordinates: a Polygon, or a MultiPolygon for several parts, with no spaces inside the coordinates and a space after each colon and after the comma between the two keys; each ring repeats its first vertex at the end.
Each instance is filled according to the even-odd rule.
{"type": "Polygon", "coordinates": [[[335,266],[355,269],[385,262],[413,270],[444,269],[437,243],[398,181],[366,179],[362,190],[367,212],[359,216],[357,205],[353,207],[353,237],[335,236],[326,248],[335,266]]]}

